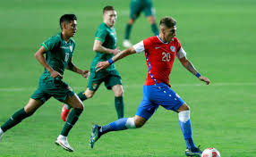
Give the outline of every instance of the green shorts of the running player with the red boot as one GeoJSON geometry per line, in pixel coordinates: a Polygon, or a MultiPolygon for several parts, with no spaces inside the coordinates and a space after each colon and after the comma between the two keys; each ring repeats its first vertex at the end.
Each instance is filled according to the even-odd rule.
{"type": "Polygon", "coordinates": [[[117,70],[98,72],[90,70],[90,79],[87,87],[89,87],[91,91],[96,91],[102,82],[104,82],[105,87],[110,90],[115,85],[122,85],[122,78],[117,70]]]}

